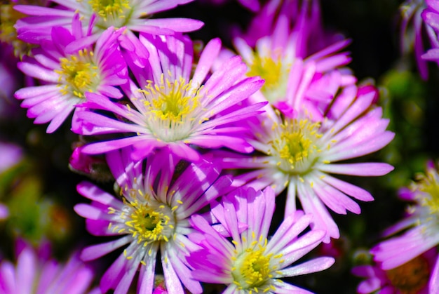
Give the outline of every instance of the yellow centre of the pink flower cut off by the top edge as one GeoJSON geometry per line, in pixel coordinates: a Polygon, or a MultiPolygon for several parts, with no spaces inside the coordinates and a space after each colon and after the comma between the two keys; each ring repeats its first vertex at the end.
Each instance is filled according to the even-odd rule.
{"type": "Polygon", "coordinates": [[[129,0],[90,0],[88,1],[94,13],[100,16],[97,27],[123,27],[130,20],[133,9],[129,0]]]}

